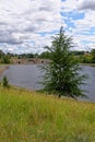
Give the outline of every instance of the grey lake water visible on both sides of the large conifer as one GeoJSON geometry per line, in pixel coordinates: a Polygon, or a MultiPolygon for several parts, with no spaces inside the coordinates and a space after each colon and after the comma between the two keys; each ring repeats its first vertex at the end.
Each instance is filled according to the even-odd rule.
{"type": "MultiPolygon", "coordinates": [[[[83,86],[85,94],[88,96],[88,100],[95,102],[95,67],[83,67],[82,73],[88,74],[88,80],[86,80],[86,85],[83,86]]],[[[38,70],[37,64],[23,64],[23,66],[10,66],[8,70],[5,70],[2,74],[7,75],[9,79],[9,83],[26,87],[31,90],[39,90],[43,86],[38,83],[43,78],[44,73],[38,70]]],[[[86,100],[86,99],[84,99],[86,100]]]]}

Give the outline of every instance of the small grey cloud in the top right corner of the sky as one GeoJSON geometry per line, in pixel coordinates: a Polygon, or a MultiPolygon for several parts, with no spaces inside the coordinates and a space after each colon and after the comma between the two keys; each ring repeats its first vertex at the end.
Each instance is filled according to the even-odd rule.
{"type": "Polygon", "coordinates": [[[92,11],[95,11],[95,1],[92,1],[92,0],[86,0],[84,1],[80,8],[80,10],[92,10],[92,11]]]}

